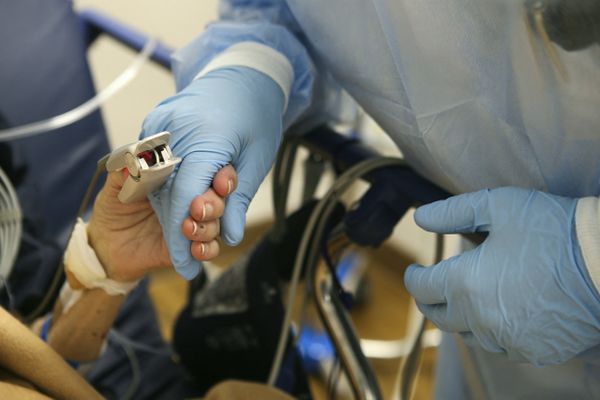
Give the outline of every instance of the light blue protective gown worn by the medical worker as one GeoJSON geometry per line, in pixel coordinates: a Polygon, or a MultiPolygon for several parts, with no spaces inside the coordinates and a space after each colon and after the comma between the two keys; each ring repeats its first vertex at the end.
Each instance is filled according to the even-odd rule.
{"type": "MultiPolygon", "coordinates": [[[[453,193],[599,194],[600,47],[545,44],[523,1],[228,0],[220,15],[175,55],[179,88],[232,44],[257,41],[294,69],[287,125],[326,114],[339,84],[453,193]]],[[[438,366],[443,399],[600,398],[597,349],[534,367],[446,337],[438,366]]]]}

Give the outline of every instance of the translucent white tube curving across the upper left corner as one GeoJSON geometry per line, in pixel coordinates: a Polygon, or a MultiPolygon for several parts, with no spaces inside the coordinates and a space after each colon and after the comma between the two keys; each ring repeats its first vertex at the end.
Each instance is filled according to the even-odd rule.
{"type": "Polygon", "coordinates": [[[149,39],[131,65],[129,65],[129,67],[127,67],[121,75],[115,78],[115,80],[104,90],[98,92],[96,96],[63,114],[38,122],[2,129],[0,130],[0,142],[38,135],[40,133],[62,128],[85,118],[100,108],[102,104],[123,89],[123,87],[137,76],[142,66],[148,61],[148,58],[156,48],[156,45],[156,39],[149,39]]]}

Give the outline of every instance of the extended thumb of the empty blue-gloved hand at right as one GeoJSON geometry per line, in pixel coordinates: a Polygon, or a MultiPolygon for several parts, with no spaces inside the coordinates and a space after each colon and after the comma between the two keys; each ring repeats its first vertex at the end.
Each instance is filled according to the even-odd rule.
{"type": "Polygon", "coordinates": [[[490,195],[490,190],[480,190],[421,206],[415,222],[430,232],[485,232],[491,224],[490,195]]]}

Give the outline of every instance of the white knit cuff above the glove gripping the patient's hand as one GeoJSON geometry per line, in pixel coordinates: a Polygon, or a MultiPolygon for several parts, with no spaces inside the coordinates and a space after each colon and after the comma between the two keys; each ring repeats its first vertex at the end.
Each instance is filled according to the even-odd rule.
{"type": "Polygon", "coordinates": [[[273,79],[283,91],[285,112],[294,82],[294,69],[283,54],[258,42],[237,43],[213,58],[194,80],[216,69],[231,66],[252,68],[273,79]]]}

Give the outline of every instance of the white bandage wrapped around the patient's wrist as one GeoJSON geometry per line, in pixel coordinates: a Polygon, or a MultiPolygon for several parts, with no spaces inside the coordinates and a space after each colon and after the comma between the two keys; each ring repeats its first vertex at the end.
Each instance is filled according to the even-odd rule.
{"type": "Polygon", "coordinates": [[[132,291],[139,281],[118,282],[107,278],[94,249],[87,238],[87,224],[77,219],[69,245],[64,256],[65,269],[88,289],[99,288],[111,296],[126,295],[132,291]]]}

